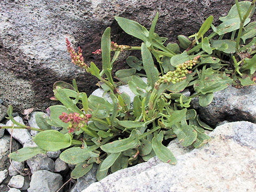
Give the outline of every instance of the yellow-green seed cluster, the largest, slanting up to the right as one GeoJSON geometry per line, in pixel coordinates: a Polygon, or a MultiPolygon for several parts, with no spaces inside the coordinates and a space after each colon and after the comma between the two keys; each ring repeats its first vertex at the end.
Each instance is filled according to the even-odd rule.
{"type": "Polygon", "coordinates": [[[192,71],[188,69],[192,69],[193,66],[196,65],[197,60],[200,58],[200,55],[194,57],[191,60],[181,63],[176,67],[174,71],[168,71],[165,75],[160,76],[157,84],[161,83],[178,83],[183,79],[186,79],[186,75],[192,73],[192,71]]]}

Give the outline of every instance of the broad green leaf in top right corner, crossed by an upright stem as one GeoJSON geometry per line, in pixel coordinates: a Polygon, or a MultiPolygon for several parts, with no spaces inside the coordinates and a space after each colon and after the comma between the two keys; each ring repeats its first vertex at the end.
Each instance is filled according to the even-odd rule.
{"type": "MultiPolygon", "coordinates": [[[[243,18],[244,15],[245,15],[245,13],[247,12],[247,10],[249,9],[249,7],[251,6],[251,2],[249,2],[249,1],[241,1],[241,2],[239,2],[238,4],[239,4],[239,7],[240,7],[241,16],[242,16],[242,18],[243,18]]],[[[251,12],[251,14],[249,15],[249,17],[251,17],[251,15],[253,15],[253,13],[254,13],[254,9],[253,9],[253,11],[251,12]]],[[[227,16],[225,16],[225,17],[220,17],[219,19],[220,19],[222,22],[225,22],[225,21],[228,21],[228,20],[233,19],[233,18],[239,18],[239,14],[238,14],[238,11],[237,11],[237,6],[236,6],[236,4],[231,7],[231,9],[229,10],[227,16]]]]}

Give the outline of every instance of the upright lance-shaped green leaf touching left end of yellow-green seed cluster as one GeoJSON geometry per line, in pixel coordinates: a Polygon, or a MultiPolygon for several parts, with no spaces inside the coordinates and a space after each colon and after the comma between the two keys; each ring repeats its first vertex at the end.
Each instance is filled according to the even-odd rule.
{"type": "Polygon", "coordinates": [[[148,85],[153,89],[155,82],[158,80],[158,70],[154,65],[154,61],[150,51],[147,46],[142,43],[141,45],[141,57],[143,62],[143,67],[148,77],[148,85]]]}

